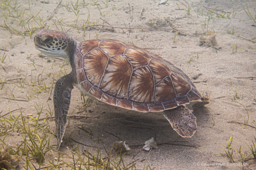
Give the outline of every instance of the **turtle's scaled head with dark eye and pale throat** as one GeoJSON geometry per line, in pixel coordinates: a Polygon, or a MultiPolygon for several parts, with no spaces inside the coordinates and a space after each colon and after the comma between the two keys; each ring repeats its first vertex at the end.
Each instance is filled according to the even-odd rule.
{"type": "Polygon", "coordinates": [[[52,57],[62,57],[70,62],[76,40],[68,34],[43,29],[34,37],[35,48],[52,57]]]}

